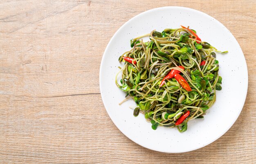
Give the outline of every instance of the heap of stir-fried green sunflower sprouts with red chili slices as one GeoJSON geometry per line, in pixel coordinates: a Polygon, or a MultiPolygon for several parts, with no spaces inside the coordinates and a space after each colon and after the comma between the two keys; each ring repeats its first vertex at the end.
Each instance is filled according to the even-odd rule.
{"type": "Polygon", "coordinates": [[[119,57],[125,63],[119,67],[120,83],[118,74],[115,83],[127,93],[124,101],[132,98],[137,104],[134,116],[144,114],[154,130],[162,125],[180,132],[189,120],[204,117],[221,90],[216,48],[185,27],[152,31],[132,39],[131,47],[119,57]]]}

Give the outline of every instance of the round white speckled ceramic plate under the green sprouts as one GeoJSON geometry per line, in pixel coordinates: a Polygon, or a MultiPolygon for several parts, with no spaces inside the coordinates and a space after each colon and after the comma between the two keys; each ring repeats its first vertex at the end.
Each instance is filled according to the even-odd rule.
{"type": "Polygon", "coordinates": [[[141,13],[126,22],[112,37],[103,54],[100,67],[100,90],[108,115],[128,138],[155,151],[181,153],[204,147],[226,133],[238,118],[247,94],[248,73],[243,52],[229,30],[213,17],[184,7],[162,7],[141,13]],[[190,26],[202,41],[209,42],[218,50],[229,53],[217,54],[222,76],[222,90],[217,91],[216,103],[207,110],[203,119],[189,121],[188,129],[180,133],[176,128],[151,129],[144,115],[133,116],[135,102],[130,100],[118,105],[125,92],[115,85],[119,71],[118,58],[130,50],[130,39],[156,29],[190,26]]]}

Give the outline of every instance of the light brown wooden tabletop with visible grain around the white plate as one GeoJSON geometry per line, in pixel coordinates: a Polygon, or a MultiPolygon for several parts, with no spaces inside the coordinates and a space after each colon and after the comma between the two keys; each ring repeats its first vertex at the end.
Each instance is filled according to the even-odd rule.
{"type": "Polygon", "coordinates": [[[0,163],[256,163],[255,27],[254,0],[1,0],[0,163]],[[163,6],[219,20],[238,40],[249,72],[235,124],[188,153],[159,153],[126,138],[99,91],[101,57],[115,31],[163,6]]]}

